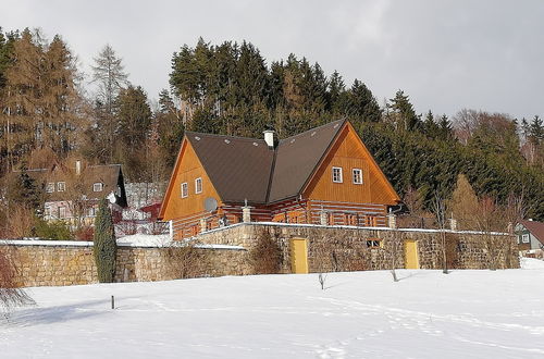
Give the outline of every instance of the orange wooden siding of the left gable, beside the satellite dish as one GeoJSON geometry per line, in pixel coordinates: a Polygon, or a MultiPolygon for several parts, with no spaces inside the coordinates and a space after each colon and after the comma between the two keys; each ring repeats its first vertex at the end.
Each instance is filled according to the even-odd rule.
{"type": "Polygon", "coordinates": [[[188,218],[195,214],[201,218],[200,213],[205,212],[203,202],[208,197],[215,198],[219,206],[221,206],[218,191],[190,143],[185,139],[164,196],[164,208],[161,210],[163,221],[188,218]],[[200,194],[195,193],[195,180],[198,177],[202,178],[202,191],[200,194]],[[181,194],[181,186],[184,182],[188,186],[188,196],[186,198],[182,198],[181,194]]]}

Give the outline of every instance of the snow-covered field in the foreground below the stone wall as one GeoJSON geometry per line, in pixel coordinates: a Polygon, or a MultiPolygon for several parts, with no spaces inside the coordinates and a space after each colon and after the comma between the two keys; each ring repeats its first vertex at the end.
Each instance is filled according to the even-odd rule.
{"type": "Polygon", "coordinates": [[[544,262],[399,277],[30,288],[37,306],[0,322],[0,358],[544,358],[544,262]]]}

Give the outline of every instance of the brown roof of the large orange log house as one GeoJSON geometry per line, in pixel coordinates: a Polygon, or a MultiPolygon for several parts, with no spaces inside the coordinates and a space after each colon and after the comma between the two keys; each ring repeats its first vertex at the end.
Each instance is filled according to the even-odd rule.
{"type": "Polygon", "coordinates": [[[186,137],[223,201],[267,203],[302,190],[344,123],[282,139],[274,150],[263,139],[194,132],[186,137]]]}

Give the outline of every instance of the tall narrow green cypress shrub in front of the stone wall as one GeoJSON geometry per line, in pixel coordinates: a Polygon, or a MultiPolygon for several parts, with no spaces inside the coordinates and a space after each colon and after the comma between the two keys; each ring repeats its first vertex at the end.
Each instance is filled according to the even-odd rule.
{"type": "Polygon", "coordinates": [[[95,242],[92,253],[97,264],[98,281],[100,283],[112,283],[115,275],[118,245],[115,243],[113,219],[106,198],[100,200],[92,240],[95,242]]]}

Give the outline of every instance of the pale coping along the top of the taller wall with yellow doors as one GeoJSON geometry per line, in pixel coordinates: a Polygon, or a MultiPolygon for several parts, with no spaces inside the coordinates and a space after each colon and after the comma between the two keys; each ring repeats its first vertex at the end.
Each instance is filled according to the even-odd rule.
{"type": "Polygon", "coordinates": [[[360,227],[356,225],[323,225],[323,224],[302,224],[302,223],[283,223],[283,222],[240,222],[231,224],[224,227],[218,227],[210,231],[202,232],[197,236],[191,238],[198,238],[201,235],[208,235],[221,231],[226,231],[235,228],[238,226],[276,226],[276,227],[316,227],[316,228],[336,228],[336,230],[367,230],[367,231],[398,231],[398,232],[420,232],[420,233],[455,233],[455,234],[490,234],[493,236],[509,236],[510,234],[505,232],[481,232],[481,231],[452,231],[452,230],[432,230],[432,228],[391,228],[391,227],[360,227]]]}

